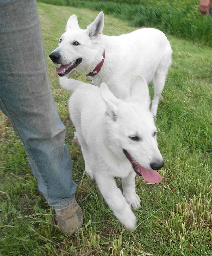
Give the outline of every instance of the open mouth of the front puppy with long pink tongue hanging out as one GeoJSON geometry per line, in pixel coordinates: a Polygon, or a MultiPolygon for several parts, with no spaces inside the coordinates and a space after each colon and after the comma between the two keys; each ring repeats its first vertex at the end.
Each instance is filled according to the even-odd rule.
{"type": "Polygon", "coordinates": [[[142,167],[139,163],[135,161],[135,159],[130,155],[130,153],[128,153],[125,149],[123,149],[123,151],[127,159],[132,164],[134,171],[139,176],[142,176],[145,181],[147,181],[148,183],[158,183],[162,181],[162,177],[157,171],[148,170],[142,167]]]}

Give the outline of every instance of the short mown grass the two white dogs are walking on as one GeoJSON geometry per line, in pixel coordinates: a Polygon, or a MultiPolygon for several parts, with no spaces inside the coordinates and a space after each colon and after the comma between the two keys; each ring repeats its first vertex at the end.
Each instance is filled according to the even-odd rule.
{"type": "MultiPolygon", "coordinates": [[[[97,11],[38,3],[52,94],[67,127],[73,179],[84,224],[66,237],[37,188],[20,138],[0,116],[0,255],[212,255],[212,50],[168,36],[173,63],[158,108],[158,144],[165,160],[163,182],[147,184],[136,177],[142,207],[134,210],[138,228],[130,233],[114,217],[94,181],[84,175],[79,147],[73,144],[67,102],[48,54],[55,49],[69,16],[86,28],[97,11]]],[[[104,34],[134,27],[105,15],[104,34]],[[118,24],[118,27],[117,27],[118,24]]],[[[75,79],[85,81],[81,74],[75,79]]],[[[117,179],[120,186],[120,180],[117,179]]]]}

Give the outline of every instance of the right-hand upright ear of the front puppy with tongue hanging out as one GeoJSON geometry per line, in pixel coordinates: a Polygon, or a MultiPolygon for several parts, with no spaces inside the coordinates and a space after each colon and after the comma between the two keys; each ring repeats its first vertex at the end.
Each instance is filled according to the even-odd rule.
{"type": "Polygon", "coordinates": [[[140,104],[150,106],[149,87],[142,75],[136,75],[134,83],[131,85],[130,100],[140,104]]]}

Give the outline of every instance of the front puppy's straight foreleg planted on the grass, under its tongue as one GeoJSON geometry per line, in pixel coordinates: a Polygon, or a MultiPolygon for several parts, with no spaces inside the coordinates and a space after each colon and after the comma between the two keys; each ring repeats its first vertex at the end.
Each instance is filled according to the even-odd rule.
{"type": "Polygon", "coordinates": [[[122,180],[122,188],[123,188],[123,195],[127,201],[127,203],[136,209],[141,207],[140,205],[140,197],[135,192],[135,176],[136,173],[134,171],[130,172],[129,175],[121,179],[122,180]]]}

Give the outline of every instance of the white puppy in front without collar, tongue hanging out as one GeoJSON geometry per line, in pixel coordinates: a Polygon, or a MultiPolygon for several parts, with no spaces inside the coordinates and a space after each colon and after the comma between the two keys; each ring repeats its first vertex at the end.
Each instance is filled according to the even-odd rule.
{"type": "Polygon", "coordinates": [[[147,82],[143,76],[136,76],[129,99],[123,101],[105,83],[98,88],[69,80],[61,77],[60,85],[73,92],[70,118],[78,134],[85,170],[95,178],[117,219],[133,230],[136,218],[130,207],[140,207],[135,192],[136,173],[149,183],[157,183],[162,177],[155,170],[164,165],[149,110],[147,82]],[[122,179],[123,194],[114,177],[122,179]]]}

